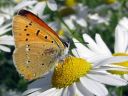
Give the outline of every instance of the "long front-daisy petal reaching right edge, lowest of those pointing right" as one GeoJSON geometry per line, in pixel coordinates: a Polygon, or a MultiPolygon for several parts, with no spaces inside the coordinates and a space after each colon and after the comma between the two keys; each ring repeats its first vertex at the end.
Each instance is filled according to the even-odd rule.
{"type": "Polygon", "coordinates": [[[126,80],[111,74],[88,74],[87,76],[95,81],[113,86],[124,86],[128,84],[126,80]]]}

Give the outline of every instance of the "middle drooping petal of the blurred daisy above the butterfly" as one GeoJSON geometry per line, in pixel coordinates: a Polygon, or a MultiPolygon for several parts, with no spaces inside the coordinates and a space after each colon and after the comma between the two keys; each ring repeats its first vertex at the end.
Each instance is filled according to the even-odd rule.
{"type": "Polygon", "coordinates": [[[38,14],[39,17],[42,17],[45,7],[46,7],[46,3],[45,2],[39,2],[33,8],[33,12],[35,14],[38,14]]]}

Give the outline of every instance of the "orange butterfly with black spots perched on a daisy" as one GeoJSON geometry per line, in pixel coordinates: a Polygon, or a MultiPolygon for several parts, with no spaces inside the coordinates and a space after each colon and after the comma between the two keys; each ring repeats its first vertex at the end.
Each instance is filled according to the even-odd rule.
{"type": "Polygon", "coordinates": [[[40,78],[67,53],[68,44],[35,14],[20,10],[13,18],[13,61],[27,80],[40,78]]]}

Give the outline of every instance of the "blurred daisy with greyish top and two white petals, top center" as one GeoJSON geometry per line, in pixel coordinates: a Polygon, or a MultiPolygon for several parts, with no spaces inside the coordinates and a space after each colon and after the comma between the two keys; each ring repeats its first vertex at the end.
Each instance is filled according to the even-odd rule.
{"type": "Polygon", "coordinates": [[[82,27],[87,27],[87,22],[86,22],[86,17],[88,14],[87,6],[78,4],[77,6],[73,7],[73,10],[76,11],[76,14],[72,14],[70,16],[63,17],[64,22],[72,30],[76,28],[74,22],[82,27]]]}

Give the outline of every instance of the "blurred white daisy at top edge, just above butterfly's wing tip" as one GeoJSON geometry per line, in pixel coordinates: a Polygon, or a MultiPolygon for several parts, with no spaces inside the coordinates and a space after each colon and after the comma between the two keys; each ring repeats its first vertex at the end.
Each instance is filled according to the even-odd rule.
{"type": "Polygon", "coordinates": [[[28,7],[28,9],[32,10],[35,14],[38,14],[41,17],[46,5],[48,5],[52,11],[57,10],[55,0],[23,0],[15,6],[14,10],[16,12],[17,10],[28,7]]]}

